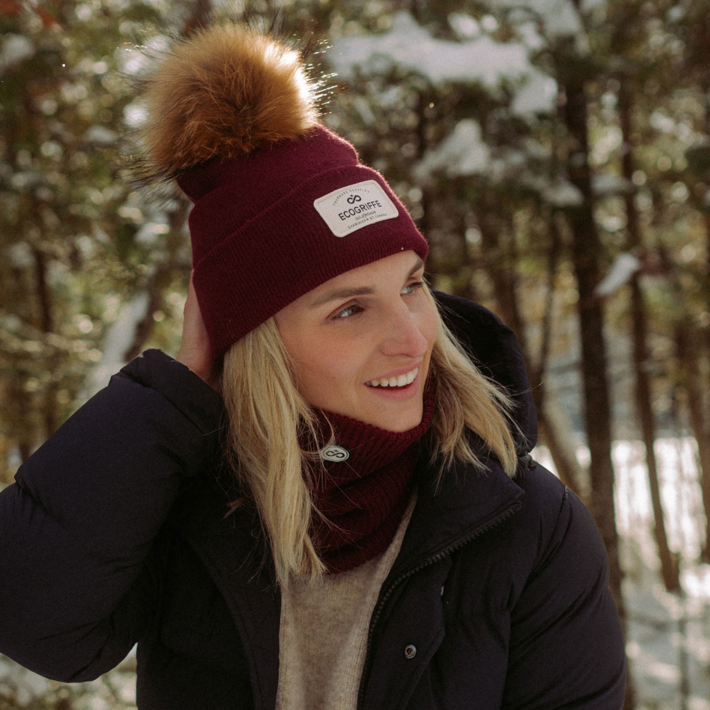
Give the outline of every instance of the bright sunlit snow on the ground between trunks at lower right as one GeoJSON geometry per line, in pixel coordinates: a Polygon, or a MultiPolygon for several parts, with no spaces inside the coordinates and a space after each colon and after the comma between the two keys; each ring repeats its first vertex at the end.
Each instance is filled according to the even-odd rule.
{"type": "MultiPolygon", "coordinates": [[[[681,594],[665,591],[652,532],[652,505],[640,441],[616,441],[616,525],[626,572],[626,650],[638,696],[638,710],[710,710],[710,565],[697,564],[704,514],[697,479],[694,439],[658,439],[662,504],[668,544],[681,556],[681,594]],[[685,669],[683,672],[682,669],[685,669]],[[681,704],[683,677],[687,699],[681,704]]],[[[545,447],[535,451],[555,470],[545,447]]],[[[589,450],[579,446],[580,463],[589,450]]]]}

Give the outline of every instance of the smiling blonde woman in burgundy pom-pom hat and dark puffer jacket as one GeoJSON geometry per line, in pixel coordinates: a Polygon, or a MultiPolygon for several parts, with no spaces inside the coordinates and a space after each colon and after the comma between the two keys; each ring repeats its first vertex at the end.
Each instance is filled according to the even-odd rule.
{"type": "Polygon", "coordinates": [[[149,77],[143,174],[195,203],[182,345],[0,494],[0,650],[80,681],[138,642],[141,709],[617,708],[606,553],[528,455],[515,339],[435,301],[317,92],[234,25],[149,77]]]}

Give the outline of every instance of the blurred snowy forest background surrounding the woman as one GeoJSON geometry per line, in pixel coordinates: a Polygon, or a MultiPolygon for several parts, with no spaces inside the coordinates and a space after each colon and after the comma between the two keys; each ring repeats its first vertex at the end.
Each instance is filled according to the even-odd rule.
{"type": "MultiPolygon", "coordinates": [[[[187,205],[126,179],[131,79],[245,10],[320,41],[324,120],[410,208],[432,284],[518,335],[537,458],[606,542],[626,707],[710,710],[707,0],[0,0],[0,486],[177,350],[187,205]]],[[[67,686],[0,657],[0,710],[131,708],[133,665],[67,686]]]]}

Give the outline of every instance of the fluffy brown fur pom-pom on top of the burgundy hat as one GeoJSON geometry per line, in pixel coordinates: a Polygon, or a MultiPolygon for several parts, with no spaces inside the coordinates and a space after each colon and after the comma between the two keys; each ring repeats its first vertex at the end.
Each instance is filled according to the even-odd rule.
{"type": "Polygon", "coordinates": [[[297,51],[236,24],[178,41],[142,94],[149,116],[143,181],[297,138],[317,123],[317,85],[297,51]]]}

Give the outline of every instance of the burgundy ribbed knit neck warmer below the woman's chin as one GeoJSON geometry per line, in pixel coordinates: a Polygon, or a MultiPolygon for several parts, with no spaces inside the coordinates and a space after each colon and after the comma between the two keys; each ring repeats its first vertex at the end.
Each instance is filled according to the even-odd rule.
{"type": "Polygon", "coordinates": [[[312,534],[329,573],[354,569],[387,549],[409,502],[420,439],[433,412],[431,380],[425,387],[422,421],[408,431],[386,431],[342,414],[317,412],[322,430],[329,431],[327,416],[335,434],[335,446],[328,447],[324,471],[312,489],[315,506],[326,519],[314,516],[312,534]]]}

